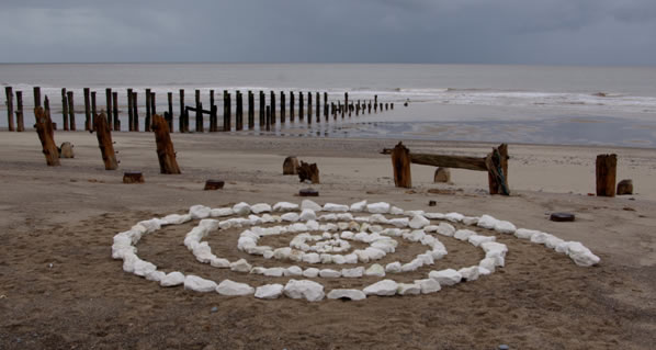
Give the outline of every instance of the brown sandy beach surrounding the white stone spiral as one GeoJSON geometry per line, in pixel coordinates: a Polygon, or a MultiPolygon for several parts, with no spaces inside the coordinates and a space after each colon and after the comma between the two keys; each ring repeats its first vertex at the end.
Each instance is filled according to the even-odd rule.
{"type": "MultiPolygon", "coordinates": [[[[173,135],[181,176],[158,173],[150,134],[117,133],[118,171],[105,171],[94,135],[56,133],[75,144],[76,158],[48,168],[34,132],[0,133],[1,349],[653,349],[656,343],[656,151],[653,149],[510,145],[510,197],[486,194],[485,173],[453,170],[454,184],[433,184],[430,167],[412,166],[412,191],[395,189],[393,140],[173,135]],[[619,155],[619,179],[636,195],[588,196],[595,156],[619,155]],[[506,268],[437,294],[308,303],[225,297],[157,283],[122,271],[112,237],[152,216],[246,201],[301,202],[302,185],[283,177],[285,156],[317,162],[317,202],[387,201],[407,210],[491,214],[519,227],[579,240],[602,260],[579,268],[544,247],[498,236],[510,252],[506,268]],[[140,170],[144,184],[123,184],[140,170]],[[208,178],[222,191],[202,191],[208,178]],[[430,193],[443,190],[442,194],[430,193]],[[428,201],[438,205],[429,207],[428,201]],[[566,211],[575,223],[553,223],[566,211]],[[50,267],[52,264],[52,267],[50,267]],[[217,307],[216,312],[211,312],[217,307]]],[[[408,142],[412,151],[483,156],[491,145],[408,142]]],[[[165,271],[197,273],[253,285],[269,281],[195,262],[182,246],[194,223],[144,238],[139,256],[165,271]]],[[[211,236],[215,251],[234,259],[238,230],[211,236]]],[[[442,239],[449,255],[430,270],[466,267],[483,253],[442,239]]],[[[398,257],[419,247],[404,245],[398,257]]],[[[270,261],[255,262],[271,264],[270,261]]],[[[385,258],[383,262],[391,262],[385,258]]],[[[284,263],[281,263],[284,264],[284,263]]],[[[326,281],[362,287],[374,280],[326,281]]]]}

